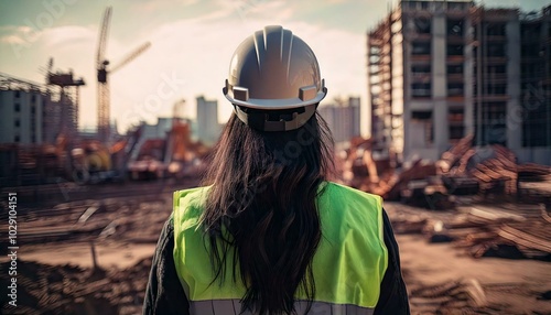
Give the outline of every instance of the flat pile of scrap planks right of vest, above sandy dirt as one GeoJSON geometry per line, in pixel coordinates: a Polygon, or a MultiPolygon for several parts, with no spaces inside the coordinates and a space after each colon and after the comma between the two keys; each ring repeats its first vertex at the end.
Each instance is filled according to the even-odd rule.
{"type": "Polygon", "coordinates": [[[430,242],[452,242],[474,258],[551,261],[551,216],[540,206],[471,206],[434,216],[414,209],[392,215],[397,233],[422,233],[430,242]]]}

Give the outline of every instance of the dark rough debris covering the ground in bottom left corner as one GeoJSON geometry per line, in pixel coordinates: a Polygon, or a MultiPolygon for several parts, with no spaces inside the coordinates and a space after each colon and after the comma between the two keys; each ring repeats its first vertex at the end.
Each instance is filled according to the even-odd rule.
{"type": "MultiPolygon", "coordinates": [[[[8,274],[10,262],[0,263],[8,274]]],[[[95,269],[48,265],[18,260],[18,314],[138,314],[141,313],[151,259],[99,276],[95,269]]],[[[8,286],[8,278],[0,284],[8,286]]],[[[8,303],[0,313],[11,311],[8,303]]]]}

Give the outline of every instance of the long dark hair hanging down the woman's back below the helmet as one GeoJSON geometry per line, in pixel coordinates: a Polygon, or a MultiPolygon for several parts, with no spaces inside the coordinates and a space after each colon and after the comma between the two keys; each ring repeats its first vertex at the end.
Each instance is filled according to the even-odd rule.
{"type": "Polygon", "coordinates": [[[214,149],[204,184],[213,185],[202,224],[215,279],[234,259],[247,292],[241,309],[294,313],[304,290],[315,294],[312,259],[321,239],[316,197],[333,170],[333,140],[315,113],[302,128],[262,132],[235,115],[214,149]]]}

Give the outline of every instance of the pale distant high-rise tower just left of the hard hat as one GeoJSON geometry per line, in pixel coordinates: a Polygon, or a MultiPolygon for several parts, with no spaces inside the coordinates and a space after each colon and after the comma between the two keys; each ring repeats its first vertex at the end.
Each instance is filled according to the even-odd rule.
{"type": "Polygon", "coordinates": [[[214,144],[220,134],[218,124],[218,101],[197,97],[197,139],[214,144]]]}

